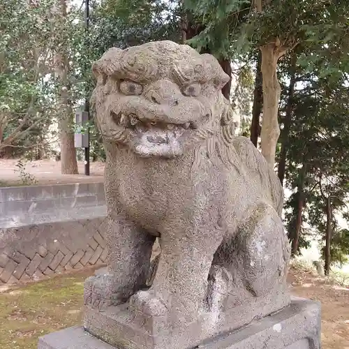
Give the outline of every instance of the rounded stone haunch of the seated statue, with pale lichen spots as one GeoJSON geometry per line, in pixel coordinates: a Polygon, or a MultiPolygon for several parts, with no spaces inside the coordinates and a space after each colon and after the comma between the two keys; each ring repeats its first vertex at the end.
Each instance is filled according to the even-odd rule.
{"type": "Polygon", "coordinates": [[[239,229],[233,264],[252,295],[263,296],[285,285],[290,246],[283,223],[275,209],[258,206],[239,229]]]}

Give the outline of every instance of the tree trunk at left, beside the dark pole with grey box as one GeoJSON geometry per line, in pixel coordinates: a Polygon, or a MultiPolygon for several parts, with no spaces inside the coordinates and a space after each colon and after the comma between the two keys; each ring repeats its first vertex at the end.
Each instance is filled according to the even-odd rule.
{"type": "MultiPolygon", "coordinates": [[[[66,0],[59,0],[56,15],[66,17],[66,0]]],[[[76,149],[73,133],[73,109],[69,102],[68,57],[61,47],[61,52],[54,55],[55,73],[59,79],[59,133],[61,146],[61,173],[78,174],[76,149]]]]}

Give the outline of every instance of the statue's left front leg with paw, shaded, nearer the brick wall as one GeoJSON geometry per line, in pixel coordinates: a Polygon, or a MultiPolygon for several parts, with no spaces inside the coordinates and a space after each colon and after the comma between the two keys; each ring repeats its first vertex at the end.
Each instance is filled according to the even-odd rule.
{"type": "Polygon", "coordinates": [[[84,284],[84,304],[98,309],[117,305],[147,281],[155,237],[125,216],[109,216],[107,274],[91,276],[84,284]]]}

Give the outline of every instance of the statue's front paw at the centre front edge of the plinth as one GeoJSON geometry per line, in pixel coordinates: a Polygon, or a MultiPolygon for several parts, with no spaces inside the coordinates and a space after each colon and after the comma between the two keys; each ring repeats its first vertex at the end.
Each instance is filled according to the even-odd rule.
{"type": "Polygon", "coordinates": [[[163,316],[167,308],[163,299],[156,297],[151,290],[138,291],[130,298],[131,308],[152,316],[163,316]]]}

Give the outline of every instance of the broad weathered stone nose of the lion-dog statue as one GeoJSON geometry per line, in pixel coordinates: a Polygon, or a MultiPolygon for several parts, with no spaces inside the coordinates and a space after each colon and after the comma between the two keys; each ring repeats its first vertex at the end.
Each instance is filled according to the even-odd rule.
{"type": "Polygon", "coordinates": [[[181,91],[176,84],[168,80],[158,80],[151,84],[145,97],[152,103],[176,106],[179,104],[181,91]]]}

